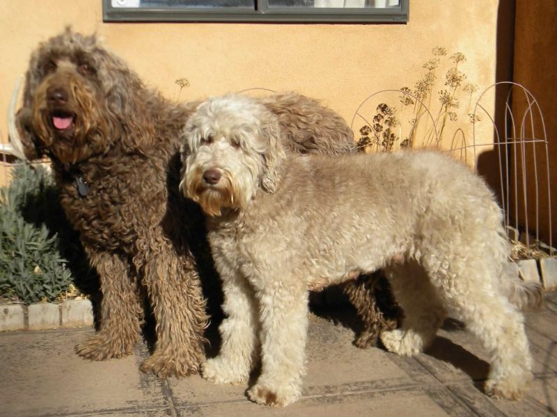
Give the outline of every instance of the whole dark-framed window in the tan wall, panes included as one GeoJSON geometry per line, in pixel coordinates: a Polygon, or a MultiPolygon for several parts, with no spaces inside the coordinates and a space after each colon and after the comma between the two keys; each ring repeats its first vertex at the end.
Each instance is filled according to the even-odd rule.
{"type": "Polygon", "coordinates": [[[409,0],[102,0],[105,22],[407,22],[409,0]]]}

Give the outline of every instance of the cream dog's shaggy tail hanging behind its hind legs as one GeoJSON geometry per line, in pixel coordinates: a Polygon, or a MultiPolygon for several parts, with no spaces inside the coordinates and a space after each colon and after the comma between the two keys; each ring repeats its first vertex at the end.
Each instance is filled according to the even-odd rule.
{"type": "Polygon", "coordinates": [[[539,307],[544,302],[542,285],[539,282],[522,281],[517,265],[511,262],[503,268],[503,286],[509,301],[521,310],[539,307]]]}

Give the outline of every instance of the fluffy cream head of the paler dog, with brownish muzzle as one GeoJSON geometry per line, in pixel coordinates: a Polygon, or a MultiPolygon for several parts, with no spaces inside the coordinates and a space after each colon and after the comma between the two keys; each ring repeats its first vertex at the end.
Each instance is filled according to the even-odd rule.
{"type": "Polygon", "coordinates": [[[258,189],[273,193],[285,157],[280,135],[276,117],[249,97],[204,101],[184,130],[182,193],[211,216],[245,208],[258,189]]]}

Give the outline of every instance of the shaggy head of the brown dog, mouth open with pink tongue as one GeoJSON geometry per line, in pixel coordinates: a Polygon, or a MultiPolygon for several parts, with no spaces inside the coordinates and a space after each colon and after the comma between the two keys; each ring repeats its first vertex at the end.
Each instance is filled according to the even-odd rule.
{"type": "Polygon", "coordinates": [[[17,130],[28,158],[72,164],[153,137],[139,77],[98,42],[67,28],[33,52],[17,130]]]}

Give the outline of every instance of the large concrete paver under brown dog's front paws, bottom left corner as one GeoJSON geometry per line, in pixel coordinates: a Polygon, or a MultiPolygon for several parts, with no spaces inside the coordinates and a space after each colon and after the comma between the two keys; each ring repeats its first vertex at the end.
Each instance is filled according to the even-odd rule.
{"type": "MultiPolygon", "coordinates": [[[[161,382],[139,372],[139,357],[93,362],[74,345],[93,330],[16,332],[0,338],[1,416],[81,416],[163,409],[161,382]]],[[[111,415],[111,414],[109,414],[111,415]]]]}

